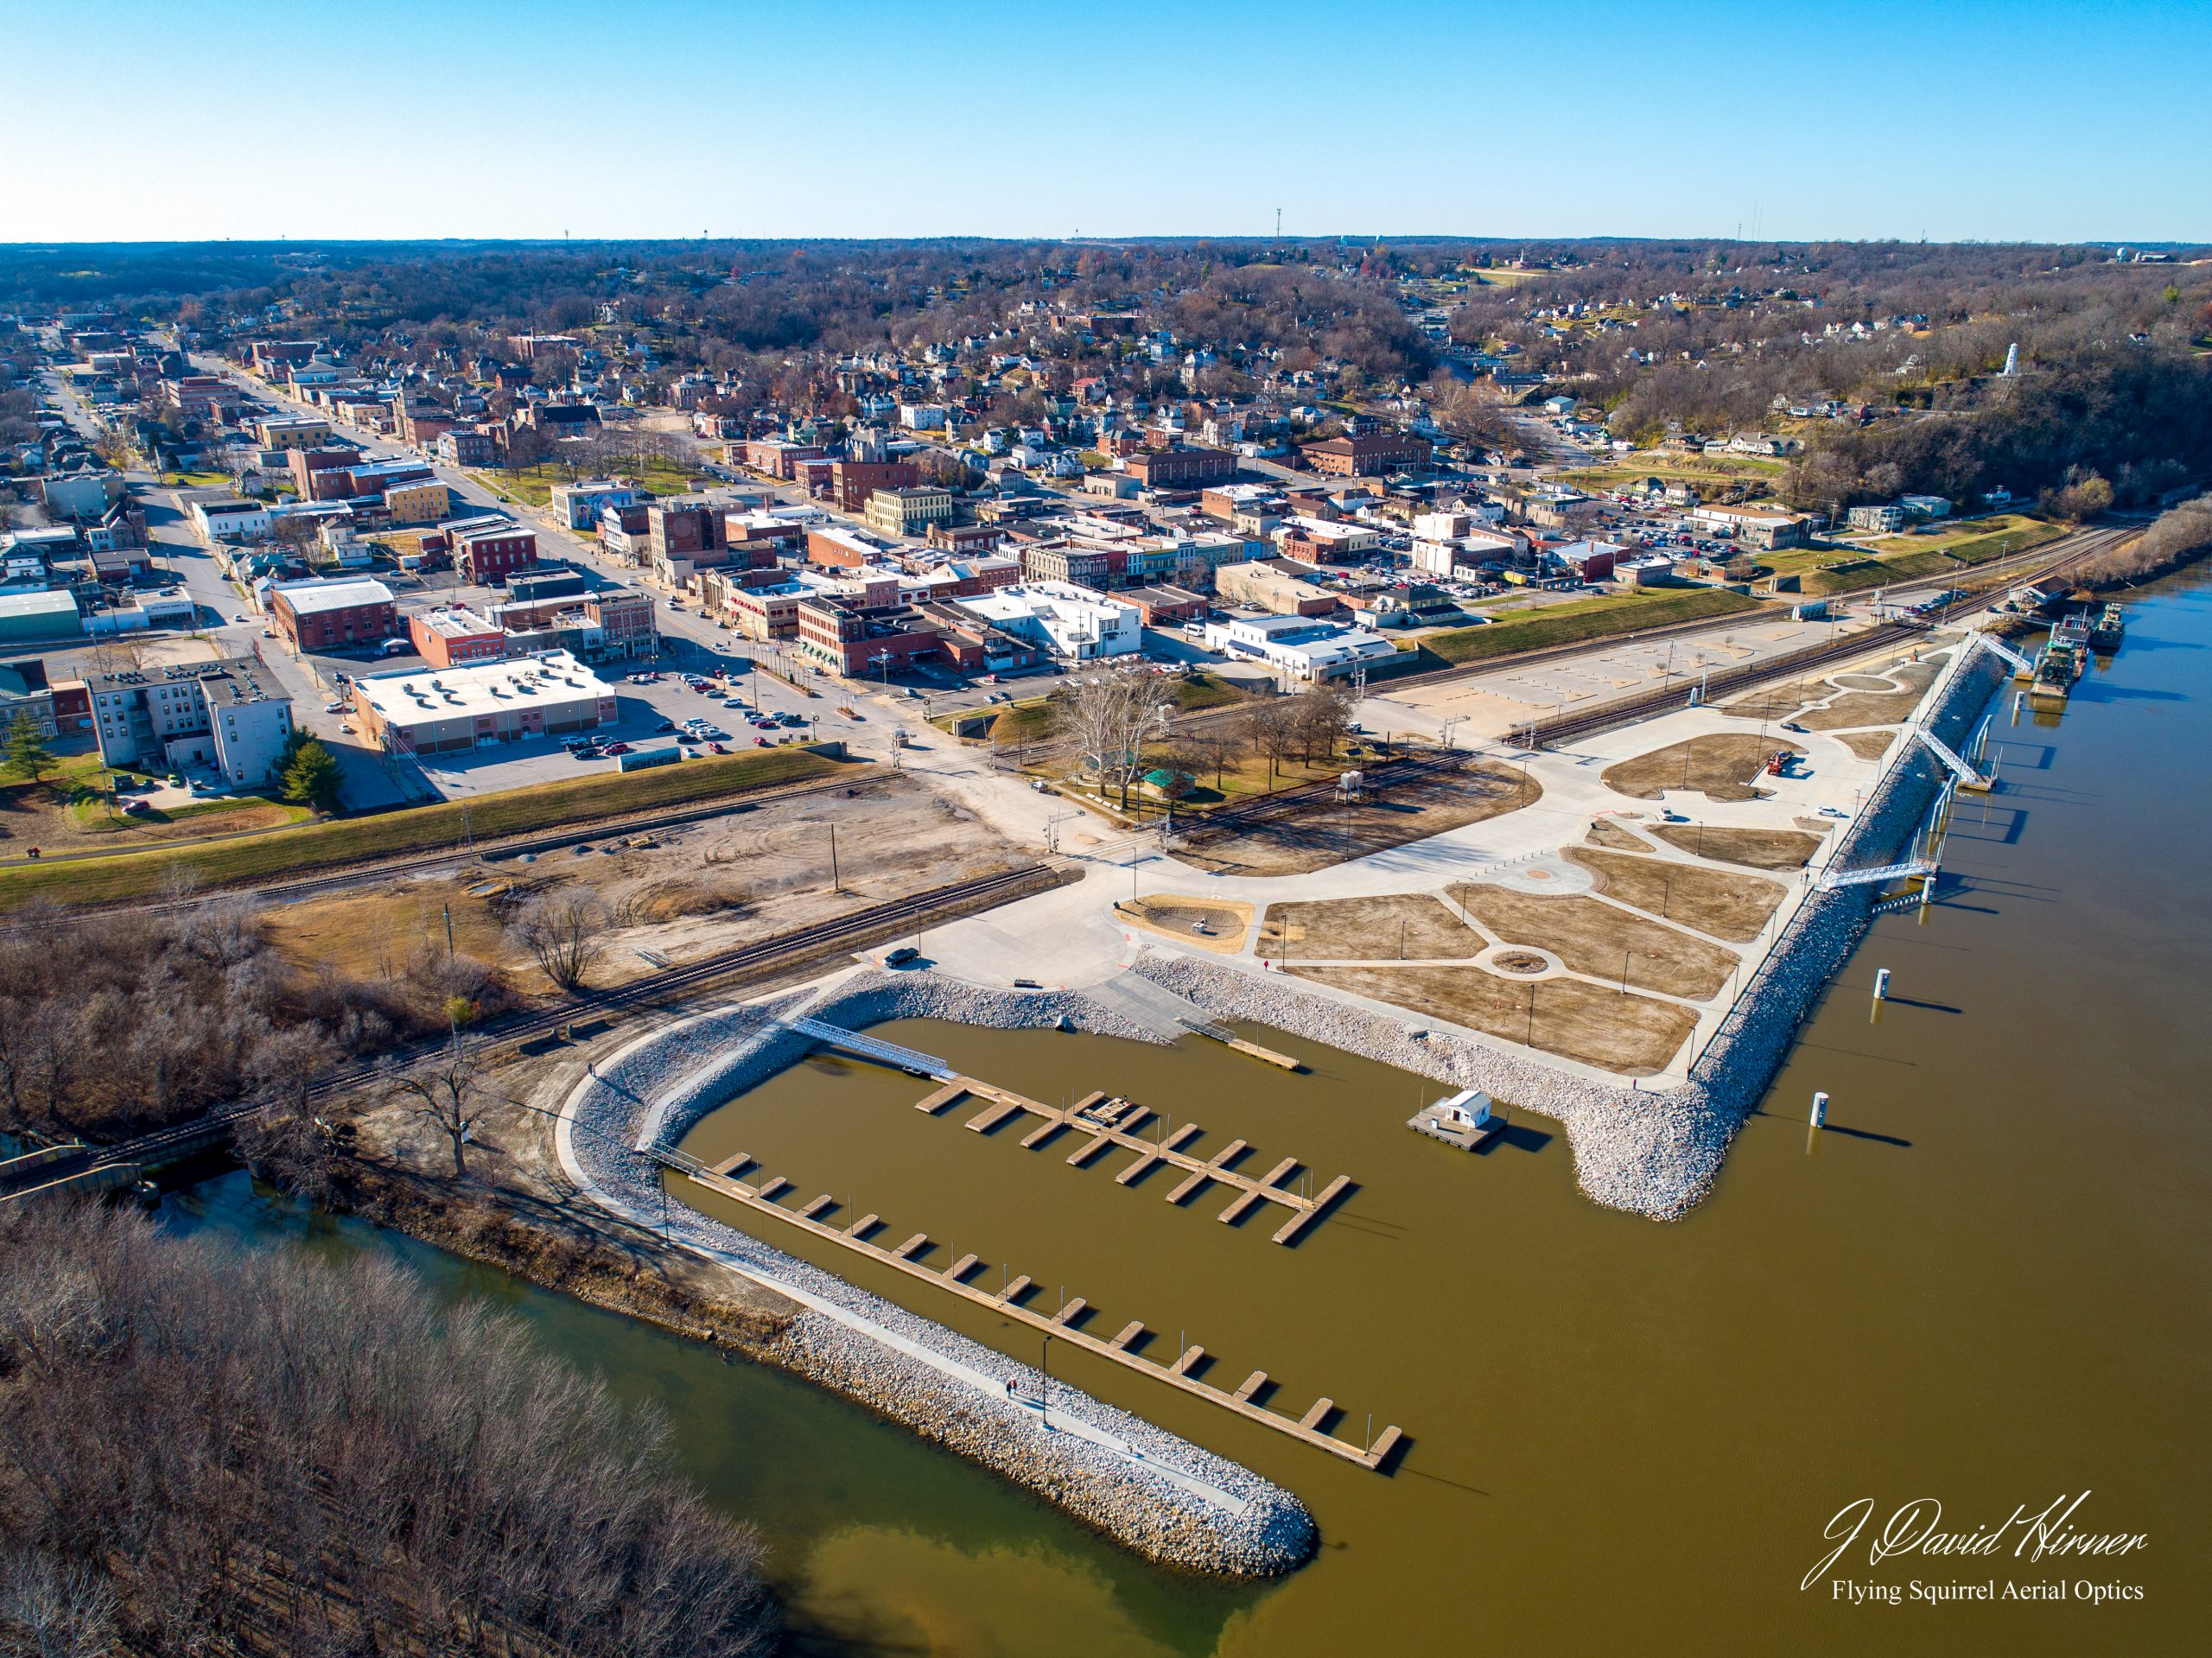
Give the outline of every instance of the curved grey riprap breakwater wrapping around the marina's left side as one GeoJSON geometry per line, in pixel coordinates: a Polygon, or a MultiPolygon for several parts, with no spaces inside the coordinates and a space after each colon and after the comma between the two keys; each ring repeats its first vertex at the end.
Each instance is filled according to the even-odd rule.
{"type": "MultiPolygon", "coordinates": [[[[706,1112],[810,1052],[810,1037],[776,1024],[799,1012],[849,1028],[951,1019],[1161,1041],[1064,990],[863,970],[827,993],[703,1012],[599,1063],[568,1096],[564,1150],[586,1187],[657,1229],[661,1167],[639,1147],[672,1147],[706,1112]]],[[[1223,1576],[1272,1576],[1312,1556],[1305,1505],[1248,1468],[686,1205],[668,1205],[668,1227],[675,1242],[799,1300],[803,1311],[765,1357],[1026,1486],[1137,1554],[1223,1576]],[[1097,1444],[1088,1430],[1117,1444],[1097,1444]]]]}

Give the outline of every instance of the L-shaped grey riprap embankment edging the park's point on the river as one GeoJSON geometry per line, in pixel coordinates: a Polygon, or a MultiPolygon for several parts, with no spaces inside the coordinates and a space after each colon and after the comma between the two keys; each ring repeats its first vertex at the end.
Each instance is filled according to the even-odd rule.
{"type": "MultiPolygon", "coordinates": [[[[2000,679],[2002,668],[1991,654],[1960,670],[1940,703],[1927,710],[1929,730],[1955,747],[2000,679]]],[[[1918,743],[1909,745],[1845,833],[1836,849],[1838,867],[1896,858],[1940,787],[1936,760],[1918,743]]],[[[1712,1189],[1730,1141],[1781,1070],[1798,1024],[1865,937],[1874,902],[1874,886],[1807,898],[1697,1057],[1688,1083],[1668,1090],[1588,1081],[1522,1052],[1427,1028],[1411,1015],[1394,1019],[1296,990],[1272,975],[1183,953],[1146,951],[1135,970],[1217,1019],[1274,1026],[1453,1088],[1482,1088],[1500,1101],[1553,1116],[1575,1150],[1575,1180],[1595,1203],[1652,1220],[1679,1220],[1712,1189]]]]}

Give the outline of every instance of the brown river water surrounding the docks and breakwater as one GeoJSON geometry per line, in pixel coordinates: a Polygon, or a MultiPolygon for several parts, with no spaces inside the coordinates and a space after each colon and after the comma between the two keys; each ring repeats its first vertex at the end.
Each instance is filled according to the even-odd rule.
{"type": "MultiPolygon", "coordinates": [[[[1219,1225],[1225,1192],[1177,1209],[1175,1180],[1115,1185],[1126,1154],[1077,1172],[1066,1136],[1024,1152],[1024,1125],[969,1134],[973,1108],[922,1116],[927,1083],[865,1063],[807,1061],[692,1132],[690,1152],[745,1150],[794,1198],[878,1211],[878,1242],[927,1231],[936,1265],[989,1262],[975,1282],[1004,1262],[1046,1304],[1088,1298],[1095,1329],[1144,1320],[1155,1357],[1201,1342],[1228,1386],[1265,1368],[1294,1415],[1325,1393],[1347,1439],[1369,1413],[1405,1428],[1405,1457],[1374,1475],[1053,1346],[1055,1375],[1307,1501],[1321,1554],[1281,1583],[1157,1572],[805,1384],[239,1178],[173,1209],[294,1247],[400,1249],[655,1399],[690,1475],[776,1547],[807,1651],[2177,1651],[2201,1620],[2212,1475],[2208,650],[2212,586],[2190,577],[2132,604],[2126,648],[2064,721],[2006,725],[2002,694],[2004,787],[1958,809],[1942,902],[1927,924],[1876,922],[1677,1225],[1582,1198],[1544,1119],[1467,1156],[1402,1127],[1436,1083],[1290,1037],[1310,1074],[1197,1037],[878,1028],[1035,1099],[1106,1088],[1194,1119],[1208,1152],[1248,1138],[1250,1169],[1349,1174],[1354,1196],[1296,1249],[1267,1242],[1272,1222],[1219,1225]],[[1880,966],[1896,979],[1876,1024],[1880,966]],[[1832,1094],[1818,1138],[1814,1090],[1832,1094]],[[2148,1543],[2028,1561],[2015,1525],[1993,1556],[1867,1559],[1913,1499],[1971,1532],[2081,1492],[2077,1532],[2148,1543]],[[1801,1587],[1854,1501],[1871,1503],[1867,1536],[1801,1587]],[[2068,1598],[1929,1601],[1916,1581],[2068,1598]],[[2095,1585],[2124,1598],[2077,1598],[2095,1585]]],[[[1040,1357],[984,1309],[750,1225],[1040,1357]]]]}

